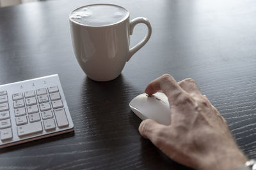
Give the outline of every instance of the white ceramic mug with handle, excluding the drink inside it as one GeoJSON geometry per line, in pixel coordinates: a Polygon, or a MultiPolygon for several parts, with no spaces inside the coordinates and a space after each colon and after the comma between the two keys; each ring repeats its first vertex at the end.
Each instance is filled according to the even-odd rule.
{"type": "MultiPolygon", "coordinates": [[[[80,8],[95,5],[111,5],[127,11],[113,4],[92,4],[80,8]]],[[[102,26],[79,24],[69,17],[76,59],[84,73],[92,80],[108,81],[118,77],[125,62],[131,59],[132,55],[140,50],[150,38],[152,29],[148,19],[138,17],[130,21],[129,15],[127,11],[124,20],[102,26]],[[130,35],[134,26],[139,23],[147,25],[147,35],[137,45],[130,48],[130,35]]]]}

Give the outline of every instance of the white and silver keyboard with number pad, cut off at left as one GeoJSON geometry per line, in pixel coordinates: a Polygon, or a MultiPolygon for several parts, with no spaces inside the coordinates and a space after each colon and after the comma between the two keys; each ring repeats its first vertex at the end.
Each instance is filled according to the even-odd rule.
{"type": "Polygon", "coordinates": [[[0,148],[70,131],[58,74],[0,85],[0,148]]]}

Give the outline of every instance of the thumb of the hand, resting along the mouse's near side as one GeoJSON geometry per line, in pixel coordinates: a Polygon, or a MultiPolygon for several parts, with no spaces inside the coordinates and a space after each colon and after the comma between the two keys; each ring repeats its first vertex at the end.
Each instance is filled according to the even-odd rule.
{"type": "Polygon", "coordinates": [[[168,126],[158,124],[155,120],[146,119],[140,124],[139,131],[141,136],[150,139],[152,143],[159,147],[168,136],[168,126]]]}

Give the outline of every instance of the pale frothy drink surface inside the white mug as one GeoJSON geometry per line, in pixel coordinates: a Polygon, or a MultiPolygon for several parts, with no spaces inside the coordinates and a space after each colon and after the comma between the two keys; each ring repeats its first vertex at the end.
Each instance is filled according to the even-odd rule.
{"type": "Polygon", "coordinates": [[[78,8],[70,14],[70,19],[78,24],[105,26],[120,22],[129,15],[128,11],[111,4],[94,4],[78,8]]]}

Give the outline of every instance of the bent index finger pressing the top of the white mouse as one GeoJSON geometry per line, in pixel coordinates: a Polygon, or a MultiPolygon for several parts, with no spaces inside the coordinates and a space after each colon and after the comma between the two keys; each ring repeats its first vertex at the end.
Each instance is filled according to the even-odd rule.
{"type": "Polygon", "coordinates": [[[179,83],[177,83],[170,74],[163,74],[163,76],[151,81],[145,89],[145,93],[152,95],[159,90],[163,90],[163,93],[168,97],[170,103],[177,100],[180,94],[186,94],[179,83]]]}

